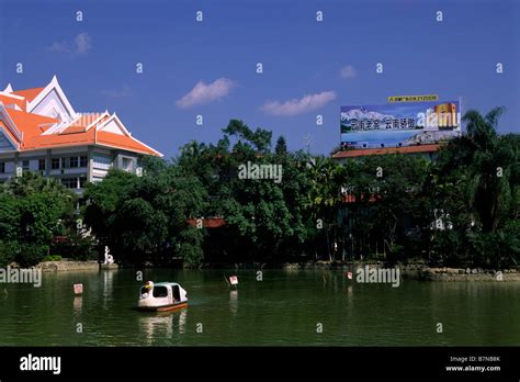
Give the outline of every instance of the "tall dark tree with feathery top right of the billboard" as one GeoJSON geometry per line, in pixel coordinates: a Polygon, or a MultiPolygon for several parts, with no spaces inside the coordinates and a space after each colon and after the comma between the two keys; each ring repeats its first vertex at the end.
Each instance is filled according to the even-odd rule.
{"type": "Polygon", "coordinates": [[[454,223],[451,236],[457,237],[459,255],[486,267],[515,262],[519,256],[518,236],[509,224],[519,210],[519,141],[518,135],[497,134],[502,112],[495,108],[483,116],[468,111],[463,117],[467,134],[441,150],[434,168],[439,202],[454,223]],[[507,252],[505,260],[500,254],[507,252]]]}

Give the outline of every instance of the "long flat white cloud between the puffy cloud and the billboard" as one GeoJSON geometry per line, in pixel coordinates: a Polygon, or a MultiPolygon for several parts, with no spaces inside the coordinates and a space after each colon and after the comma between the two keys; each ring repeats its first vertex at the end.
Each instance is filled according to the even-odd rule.
{"type": "Polygon", "coordinates": [[[325,106],[336,99],[336,92],[324,91],[317,94],[307,94],[302,99],[293,99],[285,102],[267,101],[261,108],[265,113],[272,115],[297,115],[325,106]]]}

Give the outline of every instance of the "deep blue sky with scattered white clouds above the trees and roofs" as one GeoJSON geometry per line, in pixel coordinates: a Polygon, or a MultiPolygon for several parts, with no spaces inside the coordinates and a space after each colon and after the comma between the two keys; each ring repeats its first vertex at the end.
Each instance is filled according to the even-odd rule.
{"type": "Polygon", "coordinates": [[[57,75],[77,111],[116,112],[166,157],[216,142],[229,119],[282,134],[291,149],[310,136],[310,150],[328,154],[341,105],[388,96],[461,97],[463,112],[504,105],[499,131],[519,132],[518,20],[512,0],[0,0],[0,87],[57,75]]]}

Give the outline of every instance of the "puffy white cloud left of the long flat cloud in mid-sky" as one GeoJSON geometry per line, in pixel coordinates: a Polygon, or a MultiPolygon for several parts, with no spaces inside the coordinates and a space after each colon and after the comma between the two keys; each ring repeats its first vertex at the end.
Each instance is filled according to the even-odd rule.
{"type": "Polygon", "coordinates": [[[218,78],[212,83],[199,81],[194,88],[176,104],[181,109],[188,109],[197,104],[206,104],[229,94],[236,82],[228,78],[218,78]]]}

